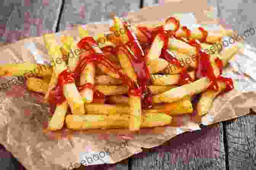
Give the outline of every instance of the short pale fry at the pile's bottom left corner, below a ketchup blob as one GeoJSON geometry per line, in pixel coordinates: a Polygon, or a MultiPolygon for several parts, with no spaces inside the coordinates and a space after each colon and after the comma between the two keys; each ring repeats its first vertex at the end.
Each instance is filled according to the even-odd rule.
{"type": "Polygon", "coordinates": [[[50,131],[56,131],[63,127],[65,116],[67,114],[67,107],[67,101],[56,106],[55,112],[48,124],[48,129],[50,131]]]}

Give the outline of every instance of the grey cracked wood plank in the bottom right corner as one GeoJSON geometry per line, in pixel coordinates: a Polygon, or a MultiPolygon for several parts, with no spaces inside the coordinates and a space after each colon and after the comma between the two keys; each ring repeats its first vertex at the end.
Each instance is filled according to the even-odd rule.
{"type": "Polygon", "coordinates": [[[256,115],[226,122],[230,170],[256,170],[256,115]]]}

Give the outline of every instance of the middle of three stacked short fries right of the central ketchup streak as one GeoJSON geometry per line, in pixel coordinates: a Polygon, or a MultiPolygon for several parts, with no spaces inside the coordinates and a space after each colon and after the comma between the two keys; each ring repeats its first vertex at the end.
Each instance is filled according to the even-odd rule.
{"type": "MultiPolygon", "coordinates": [[[[195,79],[195,72],[189,72],[192,79],[195,79]]],[[[175,85],[180,80],[180,74],[151,74],[150,79],[153,85],[175,85]]]]}

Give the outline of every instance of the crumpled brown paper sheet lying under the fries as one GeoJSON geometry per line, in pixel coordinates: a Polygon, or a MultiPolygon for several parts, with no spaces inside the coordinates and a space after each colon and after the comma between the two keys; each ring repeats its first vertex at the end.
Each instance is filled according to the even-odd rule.
{"type": "MultiPolygon", "coordinates": [[[[207,24],[212,26],[213,31],[219,31],[215,29],[219,23],[219,20],[214,18],[215,9],[207,6],[206,1],[197,3],[200,5],[195,6],[193,1],[169,2],[128,13],[126,19],[131,24],[155,24],[164,22],[168,16],[175,14],[181,19],[182,25],[207,24]]],[[[85,28],[91,36],[97,36],[99,33],[108,32],[109,26],[110,22],[105,22],[88,24],[85,28]]],[[[61,35],[77,37],[78,31],[74,27],[72,30],[56,33],[57,38],[61,35]]],[[[224,72],[233,78],[239,77],[235,79],[235,90],[218,97],[213,103],[213,108],[202,120],[195,114],[174,116],[170,126],[143,128],[136,133],[127,129],[76,132],[64,129],[49,132],[44,126],[49,118],[49,108],[48,104],[43,103],[43,97],[27,91],[22,80],[14,77],[1,78],[0,83],[6,83],[8,88],[2,88],[0,91],[0,143],[11,151],[27,170],[73,169],[81,164],[116,163],[141,152],[142,148],[159,146],[178,134],[199,130],[201,121],[207,125],[246,115],[250,108],[255,109],[255,74],[253,76],[252,65],[256,62],[253,59],[256,50],[248,47],[247,51],[241,52],[237,55],[239,60],[231,61],[224,72]],[[236,68],[245,62],[243,58],[246,58],[246,64],[250,63],[251,70],[248,69],[249,66],[236,68]],[[10,81],[16,83],[7,83],[10,81]]],[[[22,39],[0,47],[0,55],[0,64],[47,63],[49,60],[42,37],[22,39]]]]}

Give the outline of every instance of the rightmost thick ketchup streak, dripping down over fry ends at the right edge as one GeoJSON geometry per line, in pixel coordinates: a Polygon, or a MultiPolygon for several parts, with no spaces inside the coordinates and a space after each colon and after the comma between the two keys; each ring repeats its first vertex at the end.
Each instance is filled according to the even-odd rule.
{"type": "Polygon", "coordinates": [[[223,69],[223,64],[222,61],[217,58],[216,64],[219,67],[220,70],[220,74],[218,77],[215,76],[214,74],[214,69],[213,66],[211,65],[210,62],[210,55],[208,55],[206,52],[202,51],[201,45],[199,44],[199,42],[195,41],[195,40],[191,40],[189,41],[189,44],[191,46],[196,47],[197,49],[197,68],[196,68],[196,77],[197,79],[200,79],[202,77],[208,77],[208,79],[210,79],[210,86],[208,87],[208,89],[212,89],[212,90],[219,90],[219,86],[217,81],[221,81],[226,83],[226,89],[225,91],[230,91],[234,89],[234,83],[232,81],[231,78],[228,77],[224,77],[221,76],[222,73],[222,69],[223,69]]]}

